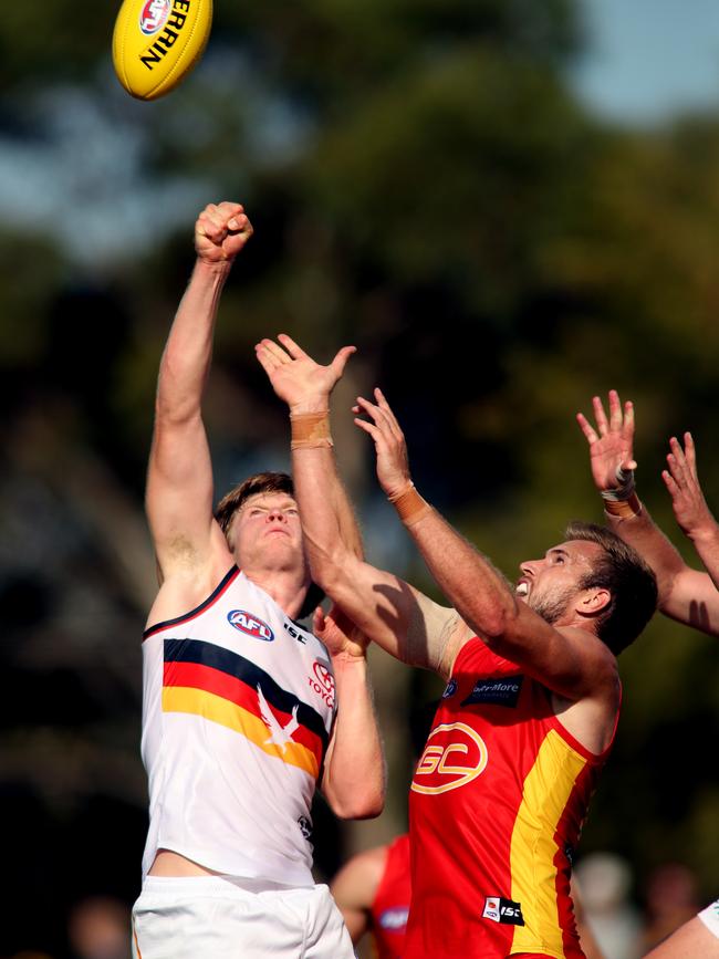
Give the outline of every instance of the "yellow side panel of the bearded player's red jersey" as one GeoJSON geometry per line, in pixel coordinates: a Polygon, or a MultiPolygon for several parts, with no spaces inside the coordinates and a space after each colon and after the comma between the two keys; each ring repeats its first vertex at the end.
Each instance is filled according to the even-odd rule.
{"type": "Polygon", "coordinates": [[[551,729],[524,780],[524,796],[512,832],[512,899],[521,903],[524,926],[517,926],[512,952],[562,959],[564,945],[556,903],[554,833],[566,809],[584,757],[551,729]]]}

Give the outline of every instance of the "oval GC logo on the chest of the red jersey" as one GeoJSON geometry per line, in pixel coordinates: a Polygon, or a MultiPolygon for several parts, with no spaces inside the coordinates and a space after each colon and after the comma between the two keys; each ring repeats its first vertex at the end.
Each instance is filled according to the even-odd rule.
{"type": "Polygon", "coordinates": [[[437,795],[467,785],[487,767],[487,746],[465,722],[446,722],[429,733],[411,791],[437,795]]]}

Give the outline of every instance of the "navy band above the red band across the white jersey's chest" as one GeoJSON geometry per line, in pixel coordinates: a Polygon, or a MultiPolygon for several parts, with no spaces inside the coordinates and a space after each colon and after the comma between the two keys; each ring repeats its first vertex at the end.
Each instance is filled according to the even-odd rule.
{"type": "Polygon", "coordinates": [[[320,713],[292,692],[282,689],[269,673],[260,669],[250,659],[223,646],[216,646],[201,639],[165,639],[164,647],[165,664],[186,663],[217,669],[246,685],[252,691],[254,700],[257,700],[257,687],[260,686],[267,701],[280,712],[291,715],[296,706],[296,718],[300,725],[313,732],[322,742],[323,751],[326,750],[330,737],[320,713]]]}

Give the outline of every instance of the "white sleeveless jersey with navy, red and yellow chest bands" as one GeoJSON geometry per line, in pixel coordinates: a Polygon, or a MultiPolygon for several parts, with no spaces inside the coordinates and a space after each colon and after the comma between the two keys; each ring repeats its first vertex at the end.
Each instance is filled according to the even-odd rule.
{"type": "Polygon", "coordinates": [[[335,711],[327,650],[237,567],[145,632],[143,761],[158,848],[312,885],[310,807],[335,711]]]}

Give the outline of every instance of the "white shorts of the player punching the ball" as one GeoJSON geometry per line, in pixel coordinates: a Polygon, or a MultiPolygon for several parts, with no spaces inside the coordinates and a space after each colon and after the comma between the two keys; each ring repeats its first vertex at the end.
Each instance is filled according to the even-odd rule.
{"type": "Polygon", "coordinates": [[[134,959],[353,959],[326,886],[148,876],[133,908],[134,959]]]}

